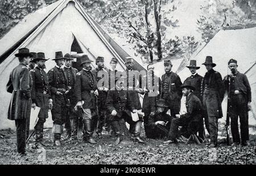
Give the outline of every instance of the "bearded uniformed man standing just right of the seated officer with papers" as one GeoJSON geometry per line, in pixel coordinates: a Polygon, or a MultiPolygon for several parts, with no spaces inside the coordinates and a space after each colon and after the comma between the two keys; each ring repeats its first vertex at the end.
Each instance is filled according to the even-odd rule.
{"type": "Polygon", "coordinates": [[[151,112],[155,111],[156,102],[160,97],[160,87],[161,80],[159,77],[154,74],[154,66],[147,66],[147,75],[143,76],[142,81],[146,82],[146,87],[144,87],[144,98],[142,103],[142,112],[144,112],[144,129],[146,136],[151,138],[151,135],[154,135],[154,132],[150,130],[150,124],[148,123],[148,116],[151,112]]]}

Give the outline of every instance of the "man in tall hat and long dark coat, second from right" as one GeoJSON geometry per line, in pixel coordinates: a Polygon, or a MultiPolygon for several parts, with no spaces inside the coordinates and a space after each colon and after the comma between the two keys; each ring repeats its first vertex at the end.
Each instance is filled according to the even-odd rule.
{"type": "Polygon", "coordinates": [[[203,63],[207,69],[201,82],[201,94],[203,95],[203,106],[207,112],[205,124],[209,124],[210,145],[209,148],[217,146],[218,119],[222,118],[221,102],[224,98],[224,84],[221,74],[213,70],[216,66],[212,62],[212,56],[207,56],[203,63]]]}

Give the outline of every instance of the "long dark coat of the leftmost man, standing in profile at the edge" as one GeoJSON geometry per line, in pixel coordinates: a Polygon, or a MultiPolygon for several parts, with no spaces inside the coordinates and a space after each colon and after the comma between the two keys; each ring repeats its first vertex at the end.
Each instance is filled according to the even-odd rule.
{"type": "Polygon", "coordinates": [[[20,63],[10,74],[7,90],[12,93],[8,119],[30,118],[32,79],[25,64],[20,63]],[[11,89],[10,89],[11,87],[11,89]]]}

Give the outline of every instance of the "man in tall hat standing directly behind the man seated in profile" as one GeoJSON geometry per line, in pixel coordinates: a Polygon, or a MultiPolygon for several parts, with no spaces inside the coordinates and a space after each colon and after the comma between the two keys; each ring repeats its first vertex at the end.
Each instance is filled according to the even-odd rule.
{"type": "MultiPolygon", "coordinates": [[[[185,79],[184,83],[186,81],[190,81],[191,85],[196,88],[193,93],[200,99],[200,101],[203,101],[203,97],[201,95],[201,81],[203,79],[202,76],[196,73],[196,70],[200,69],[200,66],[196,66],[196,60],[190,60],[189,66],[187,66],[189,71],[191,72],[191,76],[185,79]]],[[[200,121],[200,130],[199,130],[199,137],[204,140],[205,138],[205,132],[204,132],[204,119],[201,118],[200,121]]],[[[207,128],[207,131],[209,133],[209,128],[207,128]]]]}

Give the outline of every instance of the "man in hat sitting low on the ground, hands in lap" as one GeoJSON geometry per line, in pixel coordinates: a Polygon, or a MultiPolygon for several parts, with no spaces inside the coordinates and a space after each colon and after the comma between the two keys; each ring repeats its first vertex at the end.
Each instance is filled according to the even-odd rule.
{"type": "Polygon", "coordinates": [[[159,99],[156,104],[156,111],[151,112],[149,115],[148,125],[150,126],[150,138],[163,139],[163,137],[168,137],[173,118],[166,114],[167,108],[166,101],[164,99],[159,99]]]}

